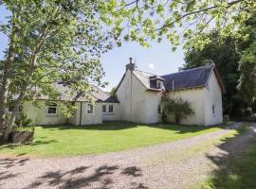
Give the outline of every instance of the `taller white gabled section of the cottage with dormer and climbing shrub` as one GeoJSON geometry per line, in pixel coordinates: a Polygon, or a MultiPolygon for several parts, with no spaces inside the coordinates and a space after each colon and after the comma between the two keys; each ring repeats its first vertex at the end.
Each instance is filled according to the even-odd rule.
{"type": "MultiPolygon", "coordinates": [[[[120,120],[152,124],[161,121],[162,92],[192,104],[194,114],[182,124],[211,126],[223,122],[224,85],[214,63],[170,75],[157,76],[136,69],[130,59],[119,82],[120,120]]],[[[174,121],[172,115],[169,121],[174,121]]]]}

